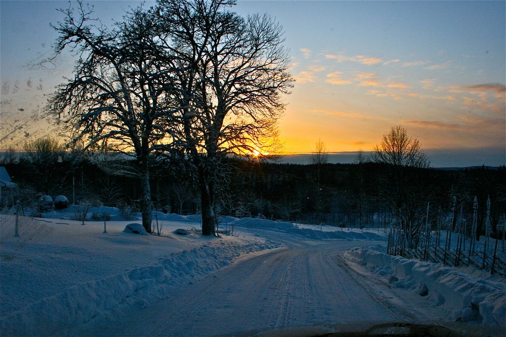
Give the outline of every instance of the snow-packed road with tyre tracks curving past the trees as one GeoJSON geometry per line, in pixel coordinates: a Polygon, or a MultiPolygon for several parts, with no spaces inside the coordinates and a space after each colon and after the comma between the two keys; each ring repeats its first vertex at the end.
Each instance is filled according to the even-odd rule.
{"type": "MultiPolygon", "coordinates": [[[[276,233],[263,235],[280,240],[276,233]]],[[[89,335],[226,335],[301,326],[412,320],[339,258],[368,242],[281,238],[286,249],[234,263],[147,308],[83,326],[89,335]]]]}

